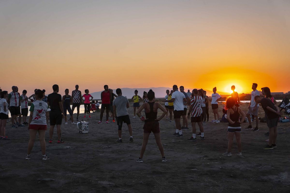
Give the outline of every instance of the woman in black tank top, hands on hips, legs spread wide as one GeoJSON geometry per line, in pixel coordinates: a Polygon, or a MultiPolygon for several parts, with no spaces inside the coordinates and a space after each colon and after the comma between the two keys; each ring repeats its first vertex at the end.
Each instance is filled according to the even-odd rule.
{"type": "Polygon", "coordinates": [[[155,136],[156,143],[158,145],[158,148],[160,150],[160,153],[162,155],[162,162],[167,162],[167,159],[164,156],[164,150],[160,139],[160,129],[159,129],[159,120],[161,120],[167,113],[166,109],[162,107],[159,103],[154,102],[155,93],[150,89],[147,93],[148,102],[143,103],[141,107],[137,110],[136,114],[141,117],[140,112],[145,109],[145,115],[146,119],[144,117],[141,117],[141,120],[143,120],[144,123],[144,133],[143,133],[143,144],[141,147],[141,153],[139,159],[136,160],[136,162],[143,162],[143,155],[146,149],[146,145],[148,143],[148,138],[151,132],[153,132],[155,136]],[[161,109],[163,111],[163,114],[157,118],[157,110],[161,109]]]}

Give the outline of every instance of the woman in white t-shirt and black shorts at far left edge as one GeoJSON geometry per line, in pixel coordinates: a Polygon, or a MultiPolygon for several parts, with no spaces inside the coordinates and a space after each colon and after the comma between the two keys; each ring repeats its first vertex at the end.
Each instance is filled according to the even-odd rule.
{"type": "Polygon", "coordinates": [[[8,91],[2,91],[0,99],[0,140],[10,140],[5,135],[5,127],[8,119],[8,103],[6,101],[7,97],[8,91]]]}

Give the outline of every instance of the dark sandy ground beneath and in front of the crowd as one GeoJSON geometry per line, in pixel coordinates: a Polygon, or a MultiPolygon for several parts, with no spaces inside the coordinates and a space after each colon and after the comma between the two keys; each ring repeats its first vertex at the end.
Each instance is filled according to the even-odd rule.
{"type": "MultiPolygon", "coordinates": [[[[133,106],[133,104],[130,104],[133,106]]],[[[242,109],[246,110],[247,105],[242,109]]],[[[220,112],[222,105],[220,105],[220,112]]],[[[260,116],[262,108],[260,108],[260,116]]],[[[290,124],[278,125],[277,149],[263,150],[266,145],[266,123],[258,132],[242,129],[242,153],[237,156],[234,141],[232,157],[227,149],[227,123],[205,123],[204,141],[189,142],[191,126],[183,138],[175,138],[174,121],[160,121],[161,139],[168,162],[161,155],[151,134],[144,163],[137,163],[142,145],[143,123],[133,119],[129,108],[134,142],[129,142],[126,124],[123,143],[116,143],[117,125],[97,124],[99,114],[86,118],[89,133],[80,134],[74,125],[62,125],[57,144],[47,143],[50,160],[41,159],[39,141],[25,160],[29,140],[27,127],[11,129],[10,141],[0,141],[0,187],[6,192],[289,192],[290,191],[290,124]]],[[[159,113],[161,114],[161,112],[159,113]]],[[[76,115],[74,115],[76,117],[76,115]]],[[[80,116],[82,117],[82,116],[80,116]]],[[[213,114],[210,110],[210,120],[213,114]]],[[[253,124],[255,126],[255,123],[253,124]]],[[[247,127],[247,123],[242,125],[247,127]]],[[[199,130],[197,129],[197,132],[199,130]]],[[[48,131],[46,132],[48,142],[48,131]]]]}

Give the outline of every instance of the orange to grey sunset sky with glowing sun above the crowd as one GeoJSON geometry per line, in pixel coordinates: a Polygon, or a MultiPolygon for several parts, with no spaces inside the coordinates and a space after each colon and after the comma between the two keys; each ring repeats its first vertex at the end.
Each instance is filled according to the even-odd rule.
{"type": "Polygon", "coordinates": [[[278,0],[0,0],[0,86],[287,92],[289,10],[278,0]]]}

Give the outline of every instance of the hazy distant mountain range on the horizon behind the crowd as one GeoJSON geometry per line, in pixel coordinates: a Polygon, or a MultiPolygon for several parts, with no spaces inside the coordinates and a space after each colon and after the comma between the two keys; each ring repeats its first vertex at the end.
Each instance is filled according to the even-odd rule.
{"type": "MultiPolygon", "coordinates": [[[[122,90],[122,95],[123,96],[126,96],[128,99],[131,99],[132,96],[134,95],[134,91],[135,90],[138,90],[138,95],[143,97],[143,92],[146,91],[148,92],[150,89],[152,89],[154,92],[155,92],[155,97],[156,98],[162,98],[166,95],[166,90],[172,90],[172,88],[168,88],[168,87],[153,87],[153,88],[121,88],[122,90]]],[[[193,90],[193,88],[184,88],[184,91],[187,92],[187,90],[190,90],[190,92],[193,90]]],[[[199,89],[199,88],[198,88],[199,89]]],[[[206,89],[204,89],[206,90],[206,89]]],[[[93,93],[90,93],[95,100],[97,99],[101,99],[101,92],[102,91],[99,91],[99,92],[93,92],[93,93]]],[[[113,92],[116,94],[116,89],[113,88],[113,92]]],[[[206,90],[207,92],[207,95],[211,96],[211,94],[213,93],[212,90],[206,90]]],[[[229,93],[226,93],[226,92],[218,92],[219,94],[229,94],[229,93]]]]}

